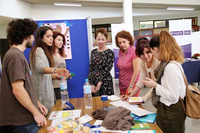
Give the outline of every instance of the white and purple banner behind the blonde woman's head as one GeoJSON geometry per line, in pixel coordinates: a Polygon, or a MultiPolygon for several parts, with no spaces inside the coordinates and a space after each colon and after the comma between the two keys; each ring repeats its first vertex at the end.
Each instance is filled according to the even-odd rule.
{"type": "Polygon", "coordinates": [[[169,32],[176,39],[184,52],[185,58],[191,58],[192,47],[192,20],[170,20],[169,32]]]}

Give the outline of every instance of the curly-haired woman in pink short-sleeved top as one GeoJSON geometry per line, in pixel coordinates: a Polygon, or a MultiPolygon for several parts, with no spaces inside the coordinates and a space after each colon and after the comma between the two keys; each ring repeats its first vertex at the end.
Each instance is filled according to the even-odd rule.
{"type": "MultiPolygon", "coordinates": [[[[139,78],[140,59],[135,54],[134,40],[128,31],[120,31],[115,36],[120,48],[117,67],[119,68],[120,94],[130,94],[139,78]]],[[[140,91],[136,94],[138,96],[140,91]]]]}

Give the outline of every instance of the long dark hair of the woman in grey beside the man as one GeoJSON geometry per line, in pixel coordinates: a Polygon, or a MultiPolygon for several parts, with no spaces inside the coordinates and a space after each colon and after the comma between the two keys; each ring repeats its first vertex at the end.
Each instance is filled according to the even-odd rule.
{"type": "Polygon", "coordinates": [[[47,44],[42,41],[44,35],[46,34],[46,32],[48,30],[51,30],[53,32],[53,30],[48,26],[42,26],[42,27],[38,28],[38,30],[36,32],[35,42],[34,42],[34,45],[31,49],[31,52],[30,52],[30,59],[32,61],[33,69],[35,69],[35,64],[36,64],[35,53],[36,53],[37,47],[40,47],[44,50],[44,53],[45,53],[45,55],[46,55],[46,57],[49,61],[49,66],[50,67],[54,66],[53,56],[52,56],[52,53],[51,53],[52,47],[47,46],[47,44]]]}

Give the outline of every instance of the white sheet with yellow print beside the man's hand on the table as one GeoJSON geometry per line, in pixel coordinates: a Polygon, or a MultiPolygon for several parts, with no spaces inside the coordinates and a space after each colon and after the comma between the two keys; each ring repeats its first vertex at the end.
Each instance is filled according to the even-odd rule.
{"type": "Polygon", "coordinates": [[[61,118],[79,118],[81,110],[68,110],[68,111],[53,111],[49,116],[49,120],[61,118]]]}

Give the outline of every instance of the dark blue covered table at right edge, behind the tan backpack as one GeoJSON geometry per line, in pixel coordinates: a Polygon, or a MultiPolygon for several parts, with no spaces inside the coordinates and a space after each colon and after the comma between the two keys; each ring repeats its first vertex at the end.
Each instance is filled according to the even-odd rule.
{"type": "Polygon", "coordinates": [[[200,82],[200,60],[186,61],[182,66],[189,83],[200,82]]]}

